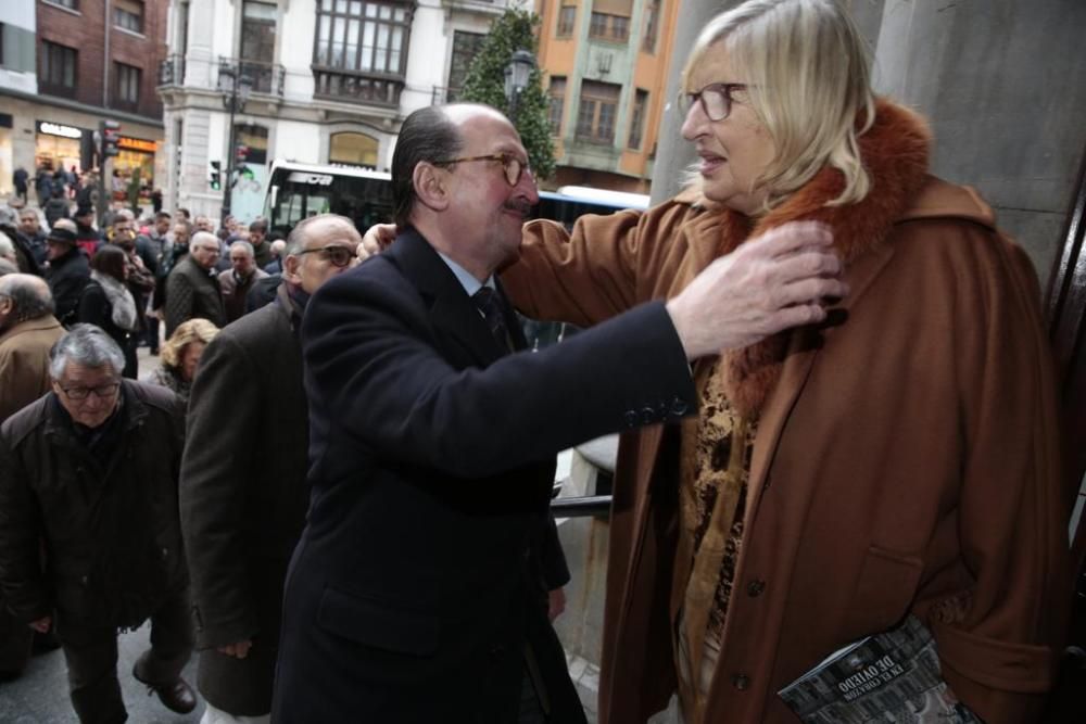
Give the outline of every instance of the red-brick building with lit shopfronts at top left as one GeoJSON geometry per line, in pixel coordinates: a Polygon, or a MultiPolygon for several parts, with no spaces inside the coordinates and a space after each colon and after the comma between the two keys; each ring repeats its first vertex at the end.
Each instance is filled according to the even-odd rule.
{"type": "MultiPolygon", "coordinates": [[[[139,173],[144,203],[165,168],[162,102],[155,92],[166,55],[167,3],[159,0],[11,0],[29,16],[33,61],[0,58],[0,166],[87,169],[99,165],[93,135],[121,123],[121,155],[111,162],[115,195],[139,173]],[[28,67],[27,67],[28,66],[28,67]],[[33,71],[31,71],[33,69],[33,71]],[[21,77],[15,78],[18,75],[21,77]],[[17,80],[17,82],[13,81],[17,80]]],[[[2,22],[2,18],[0,18],[2,22]]],[[[7,55],[7,53],[5,53],[7,55]]],[[[5,170],[0,168],[0,172],[5,170]]],[[[0,194],[10,172],[0,173],[0,194]]],[[[31,200],[33,200],[31,193],[31,200]]]]}

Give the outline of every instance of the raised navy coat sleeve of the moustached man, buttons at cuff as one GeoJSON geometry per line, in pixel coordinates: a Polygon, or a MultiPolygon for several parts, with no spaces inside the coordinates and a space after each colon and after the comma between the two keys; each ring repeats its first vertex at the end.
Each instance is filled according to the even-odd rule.
{"type": "MultiPolygon", "coordinates": [[[[372,264],[392,262],[377,257],[358,271],[372,264]]],[[[690,368],[661,303],[536,353],[457,370],[438,352],[418,291],[384,281],[333,279],[302,328],[311,408],[382,457],[481,478],[694,411],[690,368]]],[[[311,450],[314,465],[320,454],[311,450]]]]}

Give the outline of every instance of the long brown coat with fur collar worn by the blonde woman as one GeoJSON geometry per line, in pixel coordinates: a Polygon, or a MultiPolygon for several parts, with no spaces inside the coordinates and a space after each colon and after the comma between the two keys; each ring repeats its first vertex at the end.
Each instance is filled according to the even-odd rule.
{"type": "MultiPolygon", "coordinates": [[[[781,336],[775,356],[771,340],[724,357],[730,398],[759,423],[706,722],[798,721],[780,688],[909,612],[988,724],[1036,721],[1062,651],[1070,496],[1033,267],[972,191],[926,175],[921,122],[879,113],[889,123],[863,147],[874,191],[856,208],[822,205],[839,189],[823,172],[753,230],[696,194],[582,217],[571,234],[536,221],[503,274],[525,314],[591,326],[674,296],[747,233],[796,218],[834,229],[850,294],[831,320],[781,336]]],[[[602,723],[644,722],[675,688],[674,592],[691,563],[678,481],[677,425],[623,435],[602,723]]]]}

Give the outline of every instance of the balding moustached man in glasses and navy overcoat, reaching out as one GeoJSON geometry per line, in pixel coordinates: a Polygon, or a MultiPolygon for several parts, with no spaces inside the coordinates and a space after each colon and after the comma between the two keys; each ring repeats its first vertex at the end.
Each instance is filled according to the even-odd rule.
{"type": "Polygon", "coordinates": [[[779,328],[736,321],[721,259],[666,305],[526,352],[494,280],[539,198],[516,130],[426,107],[392,166],[400,237],[302,327],[313,492],[273,721],[583,721],[525,566],[554,455],[695,411],[687,360],[779,328]]]}

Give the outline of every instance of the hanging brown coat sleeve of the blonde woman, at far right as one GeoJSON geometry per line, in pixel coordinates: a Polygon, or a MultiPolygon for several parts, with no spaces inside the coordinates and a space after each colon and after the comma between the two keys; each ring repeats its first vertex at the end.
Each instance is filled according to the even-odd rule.
{"type": "Polygon", "coordinates": [[[1022,250],[990,241],[967,247],[976,253],[955,304],[959,537],[974,581],[969,600],[937,604],[930,618],[955,693],[988,724],[1011,724],[1040,715],[1074,576],[1040,292],[1022,250]]]}

